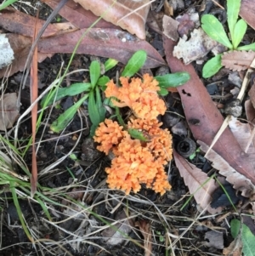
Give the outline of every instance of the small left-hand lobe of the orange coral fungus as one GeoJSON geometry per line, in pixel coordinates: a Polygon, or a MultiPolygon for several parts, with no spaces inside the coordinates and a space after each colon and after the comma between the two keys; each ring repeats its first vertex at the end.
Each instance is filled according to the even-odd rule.
{"type": "Polygon", "coordinates": [[[97,149],[107,155],[111,148],[127,135],[127,132],[122,131],[122,129],[122,126],[119,126],[117,122],[113,122],[111,119],[105,119],[105,122],[100,122],[94,136],[94,141],[101,144],[97,149]]]}

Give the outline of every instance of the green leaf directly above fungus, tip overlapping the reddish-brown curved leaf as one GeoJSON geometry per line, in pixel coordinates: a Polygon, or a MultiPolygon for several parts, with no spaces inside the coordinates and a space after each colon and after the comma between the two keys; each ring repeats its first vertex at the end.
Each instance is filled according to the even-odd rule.
{"type": "Polygon", "coordinates": [[[139,50],[133,54],[133,56],[128,60],[127,65],[122,71],[122,77],[133,77],[133,75],[139,71],[139,69],[144,65],[147,58],[147,54],[144,50],[139,50]]]}

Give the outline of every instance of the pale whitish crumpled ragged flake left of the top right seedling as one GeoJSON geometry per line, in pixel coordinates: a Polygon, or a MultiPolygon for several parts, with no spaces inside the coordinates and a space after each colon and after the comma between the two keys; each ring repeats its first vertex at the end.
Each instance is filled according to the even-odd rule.
{"type": "Polygon", "coordinates": [[[186,41],[186,38],[180,38],[178,45],[173,49],[173,56],[183,59],[186,65],[201,59],[219,44],[208,37],[201,28],[191,32],[189,41],[186,41]]]}

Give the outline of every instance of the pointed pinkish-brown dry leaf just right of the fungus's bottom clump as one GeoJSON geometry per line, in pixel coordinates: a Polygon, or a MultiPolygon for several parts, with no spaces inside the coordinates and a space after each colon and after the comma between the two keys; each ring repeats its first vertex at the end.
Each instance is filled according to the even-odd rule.
{"type": "Polygon", "coordinates": [[[209,213],[220,213],[222,208],[211,208],[212,193],[216,190],[214,179],[209,179],[207,174],[201,169],[196,168],[194,164],[187,162],[183,156],[179,156],[173,151],[174,161],[180,175],[184,178],[185,185],[188,186],[190,194],[194,194],[195,201],[201,208],[207,208],[209,213]]]}

